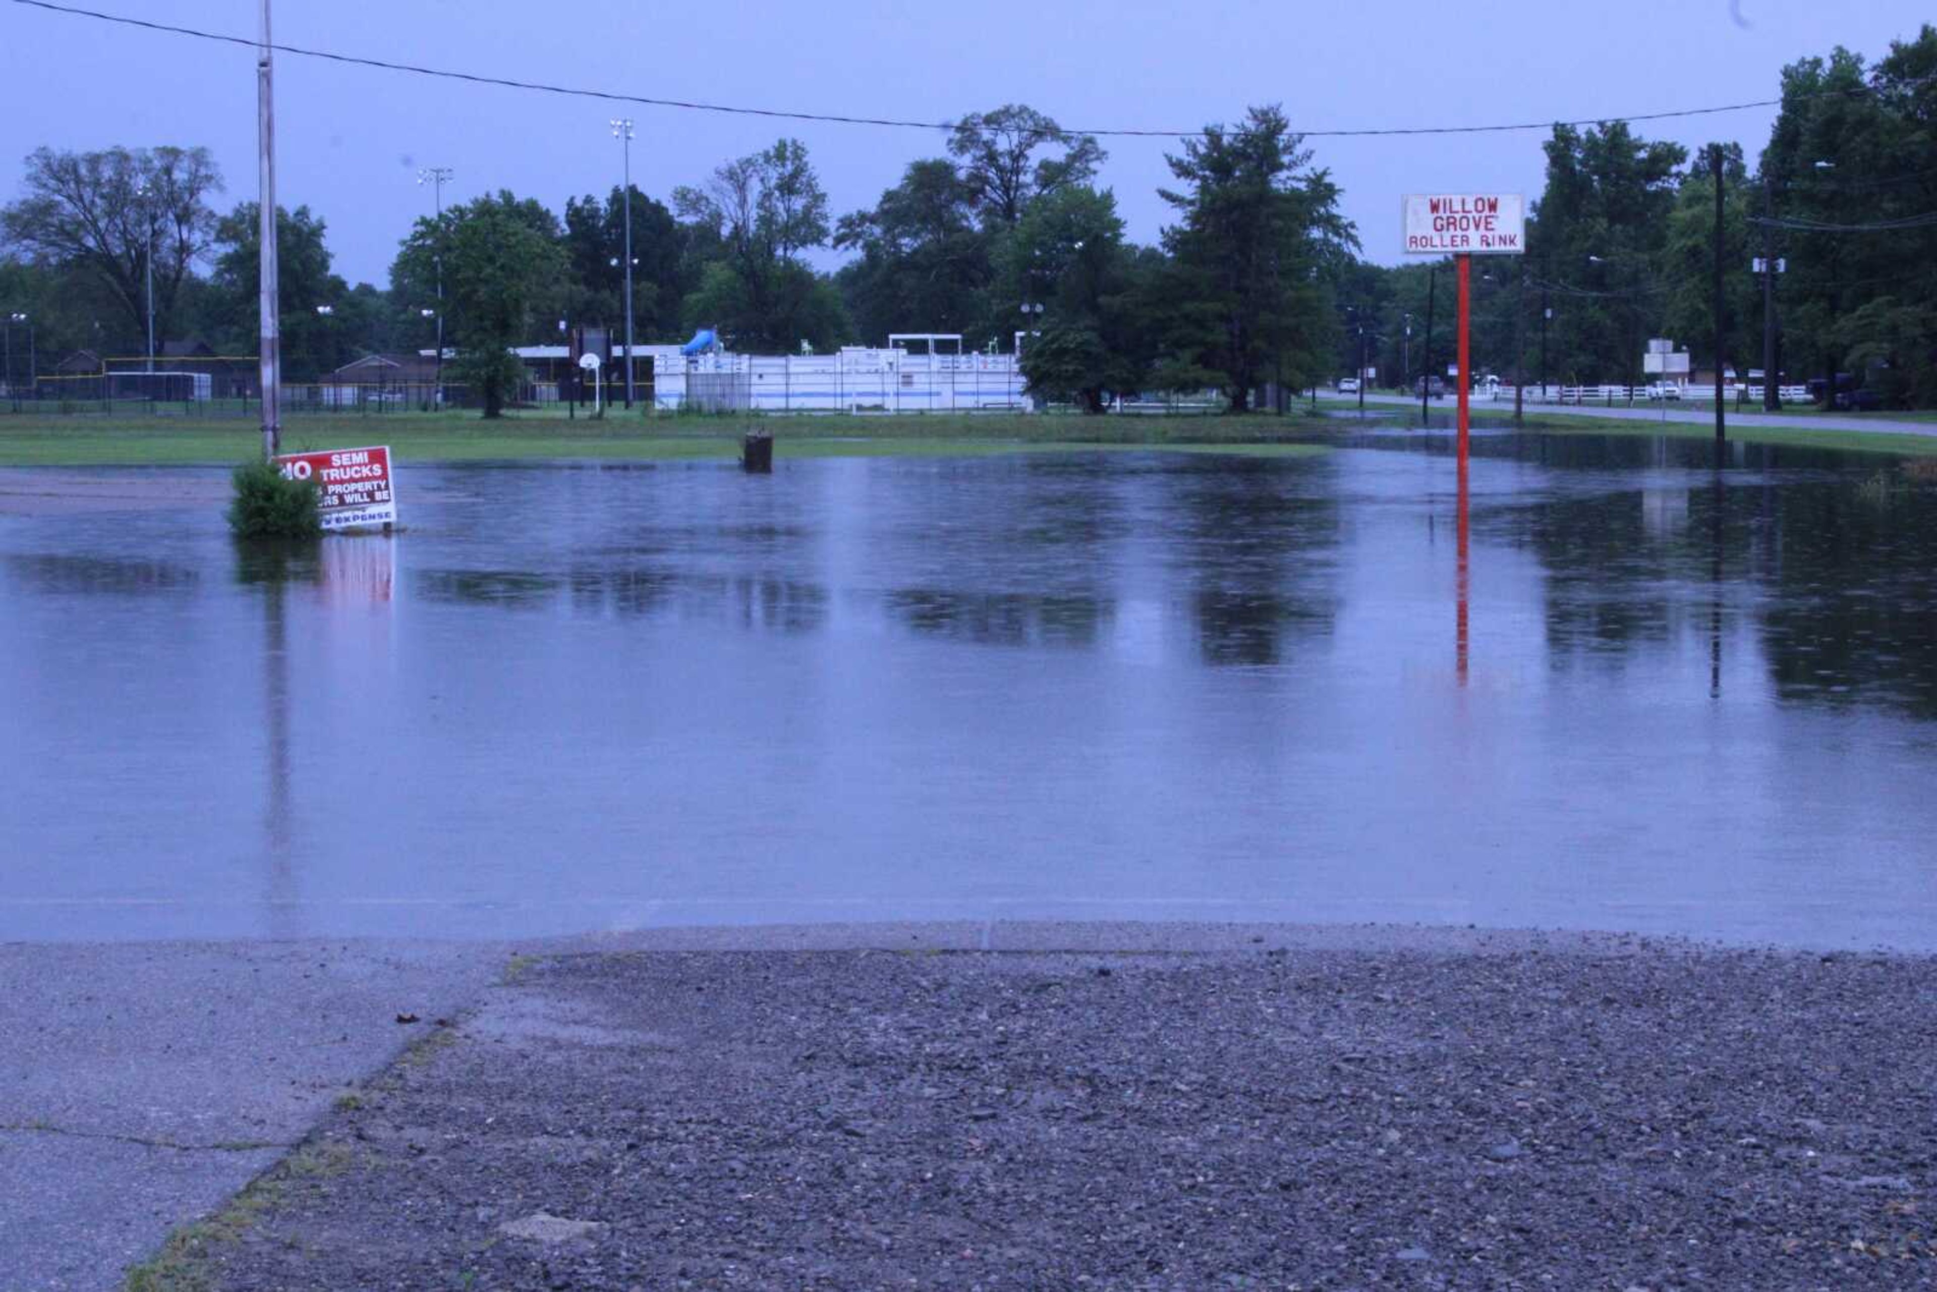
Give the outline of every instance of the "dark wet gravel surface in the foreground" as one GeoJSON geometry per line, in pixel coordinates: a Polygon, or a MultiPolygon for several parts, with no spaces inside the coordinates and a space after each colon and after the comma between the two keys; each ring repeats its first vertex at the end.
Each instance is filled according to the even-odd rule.
{"type": "Polygon", "coordinates": [[[331,1114],[267,1288],[1910,1288],[1937,961],[608,953],[331,1114]]]}

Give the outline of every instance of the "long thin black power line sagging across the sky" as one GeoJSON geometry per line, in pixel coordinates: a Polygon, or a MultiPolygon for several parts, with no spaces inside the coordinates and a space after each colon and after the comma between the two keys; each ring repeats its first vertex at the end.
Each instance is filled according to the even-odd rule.
{"type": "MultiPolygon", "coordinates": [[[[14,0],[14,4],[23,4],[35,10],[46,10],[50,14],[66,14],[70,17],[93,17],[105,23],[116,23],[122,27],[141,27],[145,31],[165,31],[169,35],[194,37],[198,41],[217,41],[221,45],[240,45],[244,48],[260,48],[258,41],[248,37],[234,37],[221,31],[203,31],[201,27],[182,27],[176,23],[157,23],[145,17],[128,17],[124,14],[103,14],[101,10],[87,10],[74,4],[54,4],[52,0],[14,0]]],[[[304,48],[300,45],[279,45],[271,43],[279,54],[296,54],[298,58],[318,58],[323,62],[351,64],[358,68],[378,68],[382,72],[407,72],[411,76],[432,76],[449,81],[469,81],[473,85],[498,85],[504,89],[529,89],[546,95],[566,95],[573,99],[600,99],[606,103],[637,103],[655,108],[680,108],[688,112],[726,112],[734,116],[767,116],[779,120],[796,122],[827,122],[839,126],[889,126],[897,130],[955,130],[957,122],[918,122],[918,120],[899,120],[891,116],[841,116],[833,112],[794,112],[783,108],[750,108],[726,103],[699,103],[690,99],[653,99],[649,95],[626,95],[610,89],[585,89],[577,85],[548,85],[544,81],[521,81],[507,76],[482,76],[477,72],[451,72],[447,68],[424,68],[409,62],[389,62],[384,58],[362,58],[356,54],[337,54],[331,50],[304,48]]],[[[1916,85],[1922,81],[1937,79],[1937,76],[1918,77],[1906,81],[1916,85]]],[[[1813,95],[1799,95],[1803,99],[1829,99],[1829,97],[1848,97],[1867,93],[1865,89],[1830,89],[1813,95]]],[[[1369,128],[1369,130],[1298,130],[1309,139],[1342,139],[1342,138],[1393,138],[1393,136],[1457,136],[1457,134],[1511,134],[1522,130],[1552,130],[1555,126],[1604,126],[1610,122],[1658,122],[1672,118],[1689,116],[1716,116],[1720,112],[1747,112],[1751,108],[1772,108],[1782,107],[1782,99],[1751,99],[1745,103],[1724,103],[1706,108],[1674,108],[1668,112],[1625,112],[1625,114],[1602,114],[1586,116],[1581,120],[1557,122],[1511,122],[1499,126],[1393,126],[1393,128],[1369,128]]],[[[1143,139],[1195,139],[1203,136],[1203,130],[1127,130],[1127,128],[1108,128],[1108,130],[1077,130],[1065,128],[1063,136],[1098,136],[1098,138],[1143,138],[1143,139]]]]}

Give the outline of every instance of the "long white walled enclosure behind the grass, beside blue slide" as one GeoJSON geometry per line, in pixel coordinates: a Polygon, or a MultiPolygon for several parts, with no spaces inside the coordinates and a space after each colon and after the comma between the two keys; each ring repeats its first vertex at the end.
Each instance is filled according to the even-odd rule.
{"type": "Polygon", "coordinates": [[[982,413],[1029,411],[1015,354],[908,354],[846,347],[835,354],[653,356],[653,403],[693,413],[982,413]]]}

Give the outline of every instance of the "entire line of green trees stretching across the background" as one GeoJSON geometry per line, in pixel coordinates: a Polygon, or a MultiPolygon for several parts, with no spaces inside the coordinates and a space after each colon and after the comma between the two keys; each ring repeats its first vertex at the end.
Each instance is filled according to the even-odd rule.
{"type": "MultiPolygon", "coordinates": [[[[1788,382],[1848,372],[1892,405],[1937,405],[1933,118],[1929,25],[1875,66],[1836,48],[1782,72],[1755,170],[1741,143],[1718,153],[1726,364],[1761,366],[1763,285],[1749,258],[1767,254],[1788,267],[1774,292],[1788,382]]],[[[1625,122],[1555,126],[1544,151],[1526,256],[1476,263],[1482,370],[1629,384],[1650,337],[1710,364],[1716,153],[1625,122]]],[[[922,329],[1009,351],[1027,333],[1032,389],[1087,409],[1116,393],[1216,387],[1242,411],[1267,385],[1352,372],[1360,347],[1393,385],[1443,370],[1449,265],[1364,260],[1337,184],[1278,108],[1207,126],[1166,157],[1170,223],[1153,246],[1125,236],[1114,192],[1096,184],[1104,161],[1098,139],[1005,105],[963,118],[941,155],[839,217],[800,139],[724,161],[668,201],[635,188],[637,337],[715,327],[740,351],[794,353],[922,329]],[[846,261],[819,271],[815,248],[846,261]]],[[[256,207],[217,213],[223,178],[205,149],[43,147],[21,190],[0,209],[0,308],[31,312],[43,354],[139,354],[149,271],[157,347],[196,337],[254,353],[256,207]]],[[[308,207],[277,213],[277,240],[291,380],[426,349],[440,269],[457,376],[488,403],[519,376],[506,347],[556,341],[560,320],[624,320],[620,188],[564,211],[500,190],[426,215],[384,289],[333,271],[327,227],[308,207]]]]}

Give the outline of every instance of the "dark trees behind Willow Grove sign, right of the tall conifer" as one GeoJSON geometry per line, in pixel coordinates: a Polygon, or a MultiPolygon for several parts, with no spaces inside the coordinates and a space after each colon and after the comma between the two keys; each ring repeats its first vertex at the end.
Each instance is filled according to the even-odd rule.
{"type": "MultiPolygon", "coordinates": [[[[1722,170],[1722,362],[1763,368],[1770,292],[1784,384],[1873,389],[1937,407],[1937,29],[1865,64],[1846,48],[1782,72],[1782,103],[1749,167],[1737,141],[1689,151],[1625,122],[1555,126],[1524,258],[1474,261],[1476,362],[1505,380],[1645,382],[1650,337],[1712,370],[1714,178],[1722,170]]],[[[1335,366],[1364,339],[1381,382],[1412,387],[1453,351],[1451,265],[1354,263],[1338,285],[1335,366]],[[1433,325],[1428,335],[1428,316],[1433,325]],[[1364,337],[1362,337],[1364,333],[1364,337]],[[1410,333],[1410,335],[1408,335],[1410,333]]]]}

